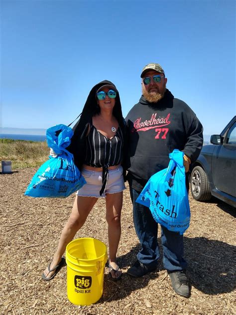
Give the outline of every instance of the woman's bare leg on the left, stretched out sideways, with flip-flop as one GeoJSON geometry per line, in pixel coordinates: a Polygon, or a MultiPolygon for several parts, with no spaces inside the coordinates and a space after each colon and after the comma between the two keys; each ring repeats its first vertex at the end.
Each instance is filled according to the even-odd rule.
{"type": "MultiPolygon", "coordinates": [[[[57,251],[53,256],[50,269],[53,269],[56,265],[60,263],[67,244],[69,244],[70,241],[73,240],[76,232],[84,225],[91,209],[93,208],[97,200],[98,198],[95,197],[76,196],[71,215],[62,230],[57,251]]],[[[44,275],[47,278],[50,278],[54,273],[55,270],[50,273],[48,271],[48,268],[44,270],[44,275]]]]}

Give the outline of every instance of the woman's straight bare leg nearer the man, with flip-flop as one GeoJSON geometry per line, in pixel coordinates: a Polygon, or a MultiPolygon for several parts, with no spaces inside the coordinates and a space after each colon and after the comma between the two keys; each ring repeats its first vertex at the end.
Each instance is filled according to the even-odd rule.
{"type": "MultiPolygon", "coordinates": [[[[109,242],[109,264],[117,269],[117,250],[120,239],[120,213],[123,202],[123,192],[117,192],[106,195],[106,219],[108,222],[108,242],[109,242]]],[[[118,278],[121,271],[112,271],[112,277],[118,278]]]]}

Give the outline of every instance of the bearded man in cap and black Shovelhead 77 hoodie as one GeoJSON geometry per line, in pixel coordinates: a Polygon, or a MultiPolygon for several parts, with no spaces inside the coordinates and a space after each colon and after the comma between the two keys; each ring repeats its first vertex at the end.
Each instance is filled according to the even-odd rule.
{"type": "MultiPolygon", "coordinates": [[[[181,74],[179,74],[181,76],[181,74]]],[[[157,223],[148,208],[136,203],[139,193],[154,173],[168,166],[169,153],[184,152],[186,185],[189,164],[194,162],[203,145],[203,127],[195,113],[166,89],[167,78],[157,63],[146,65],[141,73],[142,96],[126,117],[128,137],[127,180],[133,203],[133,221],[141,244],[137,261],[127,273],[141,277],[157,267],[160,256],[157,223]]],[[[161,226],[163,264],[174,291],[190,296],[183,258],[183,235],[161,226]]]]}

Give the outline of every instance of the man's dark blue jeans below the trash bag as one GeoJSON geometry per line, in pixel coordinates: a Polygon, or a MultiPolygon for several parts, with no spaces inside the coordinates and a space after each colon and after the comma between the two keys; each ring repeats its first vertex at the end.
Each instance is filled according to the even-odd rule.
{"type": "MultiPolygon", "coordinates": [[[[147,267],[153,268],[157,265],[157,260],[160,257],[157,243],[158,224],[147,207],[135,202],[140,192],[131,187],[129,187],[129,191],[133,203],[134,227],[142,247],[137,254],[137,260],[147,267]]],[[[161,226],[161,242],[164,268],[168,271],[186,269],[187,262],[183,258],[183,235],[180,235],[178,232],[171,232],[164,226],[161,226]]]]}

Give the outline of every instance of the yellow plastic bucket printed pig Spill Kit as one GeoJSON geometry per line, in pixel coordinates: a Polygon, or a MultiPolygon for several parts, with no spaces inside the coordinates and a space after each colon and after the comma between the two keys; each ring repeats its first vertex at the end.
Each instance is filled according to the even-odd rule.
{"type": "Polygon", "coordinates": [[[107,246],[95,238],[79,238],[67,245],[67,297],[71,303],[90,305],[102,297],[107,259],[107,246]]]}

